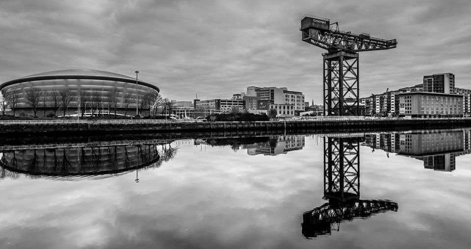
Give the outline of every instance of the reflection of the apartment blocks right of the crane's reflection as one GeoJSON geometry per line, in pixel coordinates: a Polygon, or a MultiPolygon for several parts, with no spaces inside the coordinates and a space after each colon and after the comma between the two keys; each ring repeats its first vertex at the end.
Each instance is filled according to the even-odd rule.
{"type": "Polygon", "coordinates": [[[455,170],[455,157],[471,153],[471,132],[437,130],[366,134],[364,145],[423,161],[426,169],[455,170]]]}

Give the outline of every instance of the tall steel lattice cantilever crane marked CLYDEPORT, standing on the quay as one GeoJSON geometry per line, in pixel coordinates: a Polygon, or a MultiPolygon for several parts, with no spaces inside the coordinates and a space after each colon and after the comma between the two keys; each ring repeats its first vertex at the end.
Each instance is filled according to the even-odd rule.
{"type": "Polygon", "coordinates": [[[330,20],[306,16],[301,20],[302,40],[324,50],[324,115],[360,115],[358,52],[388,50],[397,42],[331,28],[330,20]]]}

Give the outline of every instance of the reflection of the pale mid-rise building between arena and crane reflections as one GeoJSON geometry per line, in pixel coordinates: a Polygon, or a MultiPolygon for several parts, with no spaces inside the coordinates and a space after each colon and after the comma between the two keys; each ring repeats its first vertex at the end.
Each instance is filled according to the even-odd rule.
{"type": "Polygon", "coordinates": [[[249,155],[279,155],[303,148],[304,136],[300,135],[271,136],[268,142],[242,146],[242,149],[247,149],[249,155]]]}

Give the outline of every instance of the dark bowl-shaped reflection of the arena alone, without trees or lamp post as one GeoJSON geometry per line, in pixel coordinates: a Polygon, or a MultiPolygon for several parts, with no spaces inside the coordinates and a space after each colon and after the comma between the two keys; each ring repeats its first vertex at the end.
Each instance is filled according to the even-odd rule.
{"type": "Polygon", "coordinates": [[[157,163],[157,145],[7,150],[0,166],[31,175],[116,174],[157,163]]]}

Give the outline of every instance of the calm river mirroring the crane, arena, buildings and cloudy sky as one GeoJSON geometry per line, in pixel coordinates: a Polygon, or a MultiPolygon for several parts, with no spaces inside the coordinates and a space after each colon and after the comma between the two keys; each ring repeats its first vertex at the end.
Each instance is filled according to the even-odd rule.
{"type": "Polygon", "coordinates": [[[471,245],[470,129],[2,149],[2,249],[471,245]]]}

